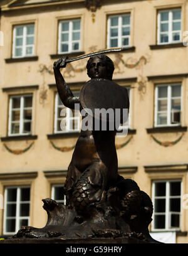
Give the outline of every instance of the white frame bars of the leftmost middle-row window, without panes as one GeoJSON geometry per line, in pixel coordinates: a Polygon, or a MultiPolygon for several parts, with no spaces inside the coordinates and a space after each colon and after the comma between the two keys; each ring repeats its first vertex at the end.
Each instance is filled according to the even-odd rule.
{"type": "Polygon", "coordinates": [[[33,122],[33,94],[26,95],[14,95],[9,98],[9,127],[8,127],[8,136],[21,136],[21,135],[29,135],[32,132],[32,122],[33,122]],[[24,107],[24,97],[32,97],[32,107],[24,107]],[[20,108],[13,109],[13,99],[20,98],[20,108]],[[19,133],[14,134],[11,133],[11,124],[16,124],[18,121],[12,121],[12,111],[19,110],[19,133]],[[31,110],[31,131],[23,132],[24,128],[24,110],[31,110]]]}

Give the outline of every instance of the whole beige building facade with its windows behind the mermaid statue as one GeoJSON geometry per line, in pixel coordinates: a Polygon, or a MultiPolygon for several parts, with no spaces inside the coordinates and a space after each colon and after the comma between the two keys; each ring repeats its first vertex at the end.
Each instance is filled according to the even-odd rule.
{"type": "MultiPolygon", "coordinates": [[[[154,203],[151,235],[188,242],[188,2],[1,1],[0,235],[44,227],[43,198],[62,187],[80,114],[58,97],[53,62],[105,48],[113,81],[128,88],[130,114],[118,134],[118,172],[154,203]],[[63,112],[62,112],[63,110],[63,112]],[[63,114],[62,114],[63,113],[63,114]]],[[[61,70],[74,95],[89,80],[87,59],[61,70]]]]}

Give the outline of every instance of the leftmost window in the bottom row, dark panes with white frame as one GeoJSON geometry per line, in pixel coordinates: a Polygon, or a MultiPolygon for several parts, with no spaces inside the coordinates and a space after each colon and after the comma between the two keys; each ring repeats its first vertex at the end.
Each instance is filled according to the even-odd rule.
{"type": "Polygon", "coordinates": [[[30,187],[7,187],[4,198],[4,234],[9,235],[29,225],[30,187]]]}

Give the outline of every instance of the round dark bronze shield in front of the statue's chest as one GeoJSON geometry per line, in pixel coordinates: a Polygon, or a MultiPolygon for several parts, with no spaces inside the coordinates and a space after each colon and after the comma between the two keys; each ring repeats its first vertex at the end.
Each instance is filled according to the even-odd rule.
{"type": "Polygon", "coordinates": [[[107,117],[103,115],[105,113],[108,113],[108,120],[111,117],[111,120],[120,120],[125,114],[123,109],[127,110],[128,117],[127,89],[112,80],[93,78],[86,82],[80,91],[80,104],[89,115],[92,112],[93,117],[100,120],[107,117]]]}

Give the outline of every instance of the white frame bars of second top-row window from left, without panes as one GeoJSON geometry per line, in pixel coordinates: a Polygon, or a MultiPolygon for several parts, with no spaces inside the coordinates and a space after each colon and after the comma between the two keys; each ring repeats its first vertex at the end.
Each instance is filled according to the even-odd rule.
{"type": "Polygon", "coordinates": [[[59,28],[58,28],[58,54],[62,54],[62,53],[73,53],[73,52],[77,52],[80,51],[81,49],[81,18],[79,19],[66,19],[63,21],[60,21],[59,23],[59,28]],[[80,40],[73,40],[73,21],[80,21],[80,29],[76,29],[74,30],[75,32],[80,32],[80,40]],[[61,51],[61,26],[63,23],[68,22],[70,24],[69,30],[68,30],[68,51],[61,51]],[[72,49],[72,44],[76,42],[79,44],[78,50],[73,50],[72,49]]]}

